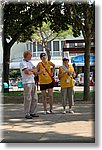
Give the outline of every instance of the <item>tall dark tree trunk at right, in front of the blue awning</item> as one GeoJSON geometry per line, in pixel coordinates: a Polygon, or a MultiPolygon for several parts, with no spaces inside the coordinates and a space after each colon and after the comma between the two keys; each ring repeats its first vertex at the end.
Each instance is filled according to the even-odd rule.
{"type": "Polygon", "coordinates": [[[91,24],[90,24],[90,11],[88,4],[85,7],[85,26],[84,26],[84,39],[85,39],[85,67],[84,67],[84,100],[90,100],[90,49],[91,49],[91,24]]]}

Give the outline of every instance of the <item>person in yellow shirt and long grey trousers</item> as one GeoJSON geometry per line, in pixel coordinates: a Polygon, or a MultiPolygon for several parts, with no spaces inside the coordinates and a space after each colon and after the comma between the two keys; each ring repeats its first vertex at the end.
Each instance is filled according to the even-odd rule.
{"type": "Polygon", "coordinates": [[[74,68],[69,64],[69,58],[63,58],[63,66],[59,67],[58,77],[60,79],[63,113],[66,113],[67,99],[69,101],[69,113],[74,113],[72,105],[74,105],[73,86],[75,76],[74,68]]]}

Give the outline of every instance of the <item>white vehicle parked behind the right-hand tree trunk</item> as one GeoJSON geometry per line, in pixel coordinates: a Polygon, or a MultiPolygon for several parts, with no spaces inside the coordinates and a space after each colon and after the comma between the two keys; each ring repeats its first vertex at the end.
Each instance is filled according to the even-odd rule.
{"type": "MultiPolygon", "coordinates": [[[[75,85],[84,85],[84,73],[80,73],[75,78],[75,85]]],[[[90,72],[90,85],[94,85],[93,72],[90,72]]]]}

